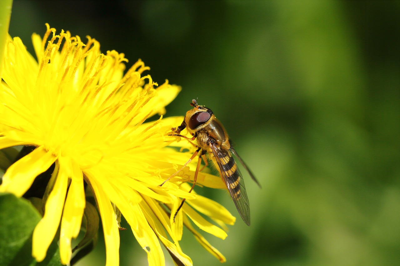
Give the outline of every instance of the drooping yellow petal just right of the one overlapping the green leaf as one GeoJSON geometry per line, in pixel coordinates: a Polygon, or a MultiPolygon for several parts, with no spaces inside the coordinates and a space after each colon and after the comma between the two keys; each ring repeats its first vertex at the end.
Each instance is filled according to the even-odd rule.
{"type": "Polygon", "coordinates": [[[82,216],[85,208],[85,193],[82,171],[76,163],[69,159],[60,160],[60,168],[72,169],[71,185],[64,205],[60,230],[60,256],[62,264],[71,260],[71,238],[76,238],[80,231],[82,216]]]}

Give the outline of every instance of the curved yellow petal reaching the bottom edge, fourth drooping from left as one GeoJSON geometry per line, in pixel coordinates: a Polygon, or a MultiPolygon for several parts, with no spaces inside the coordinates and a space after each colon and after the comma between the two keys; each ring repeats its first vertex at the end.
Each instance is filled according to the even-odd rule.
{"type": "Polygon", "coordinates": [[[96,183],[96,179],[89,175],[86,175],[86,177],[90,182],[93,193],[96,197],[98,210],[103,224],[104,241],[106,243],[106,266],[118,266],[120,264],[120,234],[114,210],[107,195],[98,183],[96,183]]]}

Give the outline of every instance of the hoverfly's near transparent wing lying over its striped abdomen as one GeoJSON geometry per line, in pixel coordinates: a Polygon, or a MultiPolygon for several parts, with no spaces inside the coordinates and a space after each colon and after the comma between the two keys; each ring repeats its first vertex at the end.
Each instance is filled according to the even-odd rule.
{"type": "Polygon", "coordinates": [[[242,174],[232,155],[227,150],[218,149],[215,145],[210,144],[218,169],[224,180],[229,194],[235,203],[240,217],[250,226],[250,206],[247,198],[246,187],[242,174]]]}

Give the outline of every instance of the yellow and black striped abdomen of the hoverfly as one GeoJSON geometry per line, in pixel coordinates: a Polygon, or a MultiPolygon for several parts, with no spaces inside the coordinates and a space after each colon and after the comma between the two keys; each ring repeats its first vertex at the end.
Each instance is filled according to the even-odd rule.
{"type": "Polygon", "coordinates": [[[238,172],[238,165],[230,155],[225,155],[219,158],[221,161],[221,174],[226,179],[226,185],[228,189],[232,191],[236,199],[240,199],[240,175],[238,172]]]}

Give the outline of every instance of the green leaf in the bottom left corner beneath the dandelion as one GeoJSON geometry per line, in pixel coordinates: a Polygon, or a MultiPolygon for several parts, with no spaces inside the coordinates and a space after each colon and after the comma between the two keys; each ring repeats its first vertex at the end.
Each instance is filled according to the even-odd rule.
{"type": "Polygon", "coordinates": [[[0,265],[61,265],[56,240],[42,262],[32,258],[32,232],[41,218],[28,200],[0,193],[0,265]]]}

